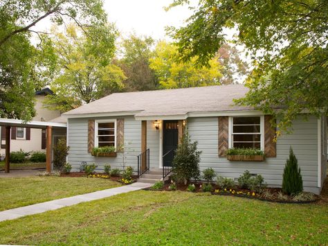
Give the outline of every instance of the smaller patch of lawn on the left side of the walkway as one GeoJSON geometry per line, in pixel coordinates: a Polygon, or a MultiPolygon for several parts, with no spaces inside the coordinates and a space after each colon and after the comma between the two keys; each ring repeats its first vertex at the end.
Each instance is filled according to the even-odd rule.
{"type": "Polygon", "coordinates": [[[0,211],[119,186],[86,177],[6,177],[0,179],[0,211]]]}

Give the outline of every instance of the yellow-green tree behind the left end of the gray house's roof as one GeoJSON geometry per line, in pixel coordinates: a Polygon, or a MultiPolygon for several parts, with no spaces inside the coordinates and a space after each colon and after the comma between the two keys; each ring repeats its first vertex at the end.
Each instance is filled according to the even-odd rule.
{"type": "Polygon", "coordinates": [[[66,33],[53,30],[51,45],[57,73],[51,82],[55,95],[47,96],[46,107],[66,112],[107,96],[122,88],[123,71],[111,58],[115,51],[116,30],[112,25],[87,29],[91,36],[69,25],[66,33]]]}

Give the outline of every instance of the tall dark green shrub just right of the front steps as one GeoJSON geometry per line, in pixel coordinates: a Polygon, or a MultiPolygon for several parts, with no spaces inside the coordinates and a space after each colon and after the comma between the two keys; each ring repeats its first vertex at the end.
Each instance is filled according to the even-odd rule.
{"type": "Polygon", "coordinates": [[[199,179],[200,155],[201,151],[197,151],[197,141],[191,143],[188,133],[185,132],[181,137],[181,144],[176,150],[172,165],[172,172],[178,181],[183,180],[187,184],[190,179],[199,179]]]}

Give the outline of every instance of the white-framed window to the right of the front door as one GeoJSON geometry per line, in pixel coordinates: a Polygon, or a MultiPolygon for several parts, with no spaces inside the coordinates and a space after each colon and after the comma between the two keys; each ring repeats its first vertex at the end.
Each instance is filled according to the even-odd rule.
{"type": "Polygon", "coordinates": [[[229,148],[264,150],[264,116],[230,117],[229,148]]]}

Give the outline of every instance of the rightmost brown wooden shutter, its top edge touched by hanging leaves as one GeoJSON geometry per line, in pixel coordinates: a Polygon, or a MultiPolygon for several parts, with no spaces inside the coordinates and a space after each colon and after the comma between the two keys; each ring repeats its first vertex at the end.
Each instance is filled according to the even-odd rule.
{"type": "Polygon", "coordinates": [[[271,125],[273,116],[264,116],[264,153],[266,157],[276,157],[275,127],[271,125]]]}

